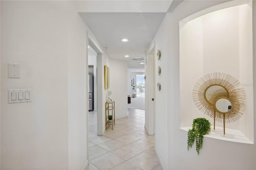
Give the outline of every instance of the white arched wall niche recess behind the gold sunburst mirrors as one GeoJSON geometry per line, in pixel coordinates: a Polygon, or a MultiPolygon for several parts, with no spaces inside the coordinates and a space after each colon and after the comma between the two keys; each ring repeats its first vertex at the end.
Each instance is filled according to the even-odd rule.
{"type": "MultiPolygon", "coordinates": [[[[194,104],[192,90],[200,77],[214,72],[238,79],[246,93],[242,118],[226,124],[234,138],[206,136],[234,142],[254,143],[252,1],[230,1],[197,12],[180,21],[180,128],[204,117],[194,104]]],[[[223,129],[222,123],[216,127],[223,129]]]]}

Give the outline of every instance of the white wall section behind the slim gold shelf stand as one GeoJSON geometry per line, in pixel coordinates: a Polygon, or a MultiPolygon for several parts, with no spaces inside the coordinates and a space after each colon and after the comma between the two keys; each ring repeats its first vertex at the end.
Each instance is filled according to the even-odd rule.
{"type": "Polygon", "coordinates": [[[127,106],[127,61],[110,59],[110,85],[111,98],[115,101],[115,117],[122,119],[128,117],[127,106]]]}

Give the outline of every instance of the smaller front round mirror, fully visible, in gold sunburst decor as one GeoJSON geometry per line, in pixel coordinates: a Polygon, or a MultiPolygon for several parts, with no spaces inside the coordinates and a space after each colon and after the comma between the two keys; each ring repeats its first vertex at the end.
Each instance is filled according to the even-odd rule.
{"type": "Polygon", "coordinates": [[[227,97],[219,97],[215,100],[214,107],[218,112],[225,114],[232,111],[233,103],[227,97]]]}

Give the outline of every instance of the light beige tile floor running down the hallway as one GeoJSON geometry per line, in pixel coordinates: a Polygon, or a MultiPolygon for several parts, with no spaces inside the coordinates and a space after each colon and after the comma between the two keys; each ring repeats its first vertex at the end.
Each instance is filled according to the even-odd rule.
{"type": "Polygon", "coordinates": [[[154,150],[154,135],[144,129],[145,111],[128,109],[97,136],[97,112],[89,112],[89,166],[86,170],[161,170],[154,150]]]}

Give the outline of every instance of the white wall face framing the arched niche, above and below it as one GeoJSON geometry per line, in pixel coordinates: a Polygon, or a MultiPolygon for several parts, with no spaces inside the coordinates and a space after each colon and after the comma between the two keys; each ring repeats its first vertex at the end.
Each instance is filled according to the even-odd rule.
{"type": "MultiPolygon", "coordinates": [[[[203,148],[200,150],[200,154],[197,155],[195,146],[193,146],[189,151],[187,150],[187,132],[179,128],[180,102],[182,102],[180,101],[180,93],[182,92],[180,92],[179,83],[179,22],[200,10],[204,10],[217,4],[222,4],[224,2],[227,1],[183,1],[172,13],[168,13],[168,22],[170,23],[170,27],[168,29],[169,32],[162,33],[167,35],[169,33],[168,53],[170,55],[170,57],[168,57],[168,87],[170,91],[168,91],[167,94],[168,130],[166,131],[168,132],[168,144],[165,147],[168,148],[168,167],[166,169],[224,170],[256,168],[255,144],[244,144],[205,137],[203,148]]],[[[252,8],[252,10],[255,12],[255,8],[252,8]]],[[[253,28],[253,31],[255,33],[255,27],[253,28]]],[[[255,117],[253,119],[255,122],[255,117]]]]}

